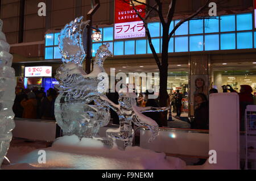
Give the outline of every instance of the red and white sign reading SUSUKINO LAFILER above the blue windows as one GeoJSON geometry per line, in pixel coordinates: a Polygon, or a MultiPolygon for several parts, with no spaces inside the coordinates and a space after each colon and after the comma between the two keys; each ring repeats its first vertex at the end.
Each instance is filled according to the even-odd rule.
{"type": "MultiPolygon", "coordinates": [[[[146,0],[140,2],[146,3],[146,0]]],[[[136,10],[145,17],[146,6],[134,2],[136,10]]],[[[115,25],[114,39],[129,39],[135,37],[144,37],[145,28],[143,22],[137,15],[137,12],[130,5],[130,0],[115,0],[115,25]]]]}

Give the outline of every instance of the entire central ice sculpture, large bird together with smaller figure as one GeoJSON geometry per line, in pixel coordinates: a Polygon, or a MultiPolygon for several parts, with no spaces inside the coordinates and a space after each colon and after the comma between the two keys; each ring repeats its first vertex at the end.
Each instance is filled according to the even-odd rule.
{"type": "MultiPolygon", "coordinates": [[[[64,64],[56,72],[59,81],[57,89],[60,90],[55,102],[57,124],[63,129],[64,135],[99,137],[100,127],[109,123],[112,108],[118,113],[120,127],[117,130],[108,129],[107,137],[102,139],[104,143],[113,144],[115,140],[122,140],[122,149],[131,145],[134,137],[132,122],[150,128],[150,141],[153,140],[158,135],[158,124],[142,112],[166,111],[168,108],[137,107],[136,94],[126,91],[119,92],[119,104],[114,104],[98,89],[105,89],[105,84],[101,83],[108,76],[103,76],[107,75],[103,64],[107,57],[113,55],[108,50],[109,44],[101,45],[96,53],[92,73],[85,73],[81,65],[85,58],[83,40],[87,24],[82,22],[82,17],[76,18],[60,32],[59,48],[64,64]],[[101,74],[102,77],[99,76],[101,74]]],[[[105,82],[108,83],[106,79],[105,82]]]]}

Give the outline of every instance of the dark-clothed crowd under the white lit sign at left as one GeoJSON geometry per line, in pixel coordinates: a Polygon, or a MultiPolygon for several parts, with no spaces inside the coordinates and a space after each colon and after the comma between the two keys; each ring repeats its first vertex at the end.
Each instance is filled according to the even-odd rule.
{"type": "Polygon", "coordinates": [[[55,120],[54,104],[57,97],[55,89],[44,91],[38,87],[22,89],[16,87],[13,112],[15,117],[24,119],[55,120]]]}

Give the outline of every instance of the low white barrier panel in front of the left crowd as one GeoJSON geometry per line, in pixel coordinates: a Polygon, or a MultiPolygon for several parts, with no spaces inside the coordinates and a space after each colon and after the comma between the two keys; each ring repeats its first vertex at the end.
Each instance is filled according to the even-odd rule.
{"type": "Polygon", "coordinates": [[[13,137],[28,140],[54,141],[56,137],[55,121],[15,120],[13,137]]]}

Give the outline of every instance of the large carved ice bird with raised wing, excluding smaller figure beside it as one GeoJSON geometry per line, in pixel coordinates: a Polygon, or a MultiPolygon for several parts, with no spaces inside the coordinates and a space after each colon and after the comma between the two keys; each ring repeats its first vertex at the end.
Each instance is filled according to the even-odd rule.
{"type": "Polygon", "coordinates": [[[87,24],[80,17],[61,30],[59,47],[64,64],[55,76],[60,90],[55,102],[57,124],[65,135],[76,134],[80,138],[97,137],[100,127],[108,125],[110,120],[109,107],[100,99],[103,93],[97,87],[105,78],[98,77],[99,73],[105,73],[104,60],[112,53],[108,50],[109,44],[102,45],[97,51],[92,73],[85,73],[81,68],[85,58],[82,28],[86,29],[87,24]]]}

